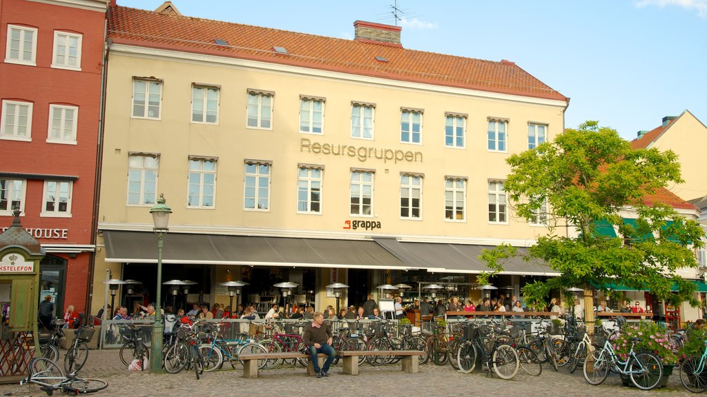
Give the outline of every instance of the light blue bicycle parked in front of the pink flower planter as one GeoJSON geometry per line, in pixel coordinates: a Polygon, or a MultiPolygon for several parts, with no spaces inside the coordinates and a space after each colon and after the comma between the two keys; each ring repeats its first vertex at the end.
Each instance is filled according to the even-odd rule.
{"type": "Polygon", "coordinates": [[[609,334],[609,338],[602,338],[602,335],[595,335],[594,343],[597,350],[594,350],[584,361],[584,378],[589,384],[599,385],[607,379],[609,371],[617,372],[619,375],[629,377],[638,389],[650,390],[658,386],[662,378],[662,362],[660,357],[653,352],[633,351],[633,345],[640,342],[641,338],[631,338],[631,350],[626,360],[621,360],[617,356],[612,344],[609,342],[611,336],[619,331],[609,334]]]}

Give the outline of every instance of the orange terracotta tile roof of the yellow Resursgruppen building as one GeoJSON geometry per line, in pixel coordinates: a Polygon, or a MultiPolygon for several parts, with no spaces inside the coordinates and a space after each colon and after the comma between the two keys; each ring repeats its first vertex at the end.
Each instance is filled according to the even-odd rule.
{"type": "Polygon", "coordinates": [[[370,41],[344,40],[239,23],[112,6],[107,37],[113,42],[221,57],[303,66],[363,76],[567,101],[513,62],[422,52],[370,41]],[[214,40],[228,45],[216,45],[214,40]],[[278,54],[273,47],[289,54],[278,54]],[[387,62],[375,57],[385,57],[387,62]]]}

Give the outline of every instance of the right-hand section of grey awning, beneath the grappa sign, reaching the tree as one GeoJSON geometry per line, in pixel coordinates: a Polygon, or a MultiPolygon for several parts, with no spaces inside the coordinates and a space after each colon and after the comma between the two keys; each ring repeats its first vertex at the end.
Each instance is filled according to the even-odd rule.
{"type": "MultiPolygon", "coordinates": [[[[481,273],[489,271],[478,257],[484,249],[493,249],[490,245],[446,244],[433,242],[399,242],[394,238],[375,238],[375,242],[397,256],[411,268],[426,268],[440,273],[481,273]]],[[[525,248],[518,248],[517,256],[503,261],[501,274],[515,275],[559,275],[544,263],[529,263],[520,256],[525,248]]]]}

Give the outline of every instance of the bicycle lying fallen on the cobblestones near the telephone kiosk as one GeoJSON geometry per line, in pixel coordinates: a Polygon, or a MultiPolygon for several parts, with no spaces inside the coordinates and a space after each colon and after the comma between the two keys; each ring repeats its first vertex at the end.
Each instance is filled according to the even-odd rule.
{"type": "MultiPolygon", "coordinates": [[[[20,381],[20,387],[25,384],[29,386],[36,385],[39,386],[41,391],[47,393],[47,396],[52,396],[54,391],[62,391],[63,393],[74,395],[95,393],[108,387],[108,383],[102,379],[80,378],[76,374],[64,376],[62,369],[46,357],[33,358],[30,361],[29,369],[30,373],[27,378],[20,381]]],[[[12,394],[5,393],[4,396],[11,396],[12,394]]]]}

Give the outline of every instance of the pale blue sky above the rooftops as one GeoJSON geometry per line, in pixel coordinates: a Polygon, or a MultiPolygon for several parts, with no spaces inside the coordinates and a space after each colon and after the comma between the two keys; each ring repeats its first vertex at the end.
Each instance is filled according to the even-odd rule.
{"type": "MultiPolygon", "coordinates": [[[[117,0],[154,10],[162,0],[117,0]]],[[[689,110],[707,124],[707,0],[173,0],[184,16],[354,38],[354,21],[402,26],[407,49],[508,59],[626,139],[689,110]]]]}

